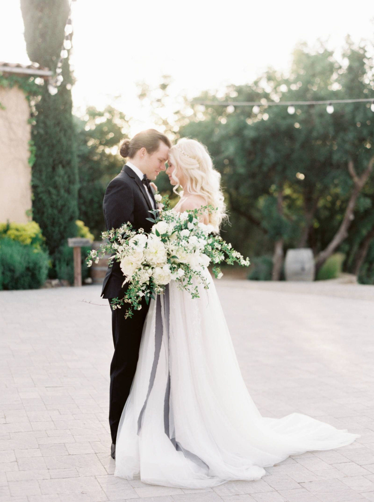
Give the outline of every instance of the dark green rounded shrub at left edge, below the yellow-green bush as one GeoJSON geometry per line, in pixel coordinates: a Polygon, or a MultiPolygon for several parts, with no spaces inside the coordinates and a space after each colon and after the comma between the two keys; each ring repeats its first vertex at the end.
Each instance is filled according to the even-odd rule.
{"type": "Polygon", "coordinates": [[[0,289],[37,289],[48,275],[49,257],[8,237],[0,240],[0,289]]]}

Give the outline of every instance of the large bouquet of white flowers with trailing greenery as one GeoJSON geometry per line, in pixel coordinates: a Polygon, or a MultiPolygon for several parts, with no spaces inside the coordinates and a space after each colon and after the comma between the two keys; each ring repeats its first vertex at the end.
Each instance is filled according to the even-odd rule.
{"type": "Polygon", "coordinates": [[[217,266],[221,262],[248,267],[248,258],[244,260],[230,243],[213,234],[211,225],[199,222],[199,214],[213,210],[212,206],[203,206],[178,213],[166,207],[149,211],[154,216],[147,218],[153,223],[149,233],[143,228],[133,230],[129,222],[102,232],[107,243],[101,244],[99,250],[91,250],[86,263],[90,267],[92,261],[98,263],[108,253],[113,254],[110,260],[120,262],[123,285],[128,283],[128,288],[124,298],[112,300],[112,308],[129,304],[125,317],[132,317],[133,309],[141,309],[143,296],[148,305],[149,299],[163,293],[170,281],[176,281],[178,288],[188,291],[192,298],[199,298],[198,285],[209,287],[202,272],[211,262],[217,279],[223,275],[217,266]]]}

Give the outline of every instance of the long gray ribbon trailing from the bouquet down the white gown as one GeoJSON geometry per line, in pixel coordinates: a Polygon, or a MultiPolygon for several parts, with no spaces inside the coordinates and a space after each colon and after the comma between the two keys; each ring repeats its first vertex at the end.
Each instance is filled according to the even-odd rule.
{"type": "MultiPolygon", "coordinates": [[[[165,334],[167,337],[167,345],[169,345],[169,286],[166,285],[165,288],[165,293],[163,295],[163,302],[161,303],[161,297],[160,295],[157,295],[156,297],[156,326],[155,326],[155,343],[154,343],[154,357],[153,357],[153,363],[152,363],[152,369],[151,369],[151,374],[149,378],[149,384],[148,384],[148,392],[147,392],[147,397],[145,398],[143,407],[140,411],[139,417],[138,417],[138,435],[141,431],[142,428],[142,419],[144,415],[144,411],[147,407],[148,403],[148,398],[149,395],[151,394],[151,390],[153,388],[154,380],[156,377],[156,370],[157,370],[157,365],[158,365],[158,360],[160,358],[160,352],[161,352],[161,344],[162,344],[162,336],[163,336],[163,328],[165,327],[165,334]]],[[[191,451],[187,450],[186,448],[183,448],[183,446],[175,440],[175,429],[174,429],[174,422],[173,422],[173,413],[171,409],[171,402],[170,402],[170,366],[168,368],[168,373],[167,373],[167,382],[166,382],[166,389],[165,389],[165,398],[164,398],[164,431],[166,436],[170,439],[172,445],[177,451],[181,451],[183,455],[186,458],[189,458],[193,462],[195,462],[197,465],[199,465],[201,468],[203,468],[208,474],[209,471],[209,466],[202,460],[200,457],[195,455],[195,453],[192,453],[191,451]],[[170,419],[172,422],[172,430],[170,430],[170,419]]]]}

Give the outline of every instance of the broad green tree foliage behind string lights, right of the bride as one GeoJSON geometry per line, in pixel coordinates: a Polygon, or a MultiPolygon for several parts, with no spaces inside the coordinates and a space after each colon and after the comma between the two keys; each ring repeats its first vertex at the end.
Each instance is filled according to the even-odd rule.
{"type": "MultiPolygon", "coordinates": [[[[317,256],[337,234],[355,189],[351,161],[359,177],[373,157],[374,122],[370,103],[266,106],[266,101],[339,98],[374,99],[374,64],[363,45],[347,37],[339,62],[323,44],[301,44],[289,74],[268,69],[251,84],[226,92],[204,92],[176,137],[204,143],[222,175],[232,227],[225,238],[245,255],[272,254],[279,239],[289,247],[311,247],[317,256]],[[220,101],[261,101],[226,107],[220,101]],[[217,103],[217,104],[216,104],[217,103]],[[260,250],[260,253],[259,253],[260,250]]],[[[374,175],[361,189],[349,228],[336,251],[350,255],[347,271],[368,229],[374,224],[374,175]]],[[[366,270],[366,269],[365,269],[366,270]]],[[[359,276],[360,278],[362,275],[359,276]]],[[[361,279],[360,279],[361,280],[361,279]]]]}

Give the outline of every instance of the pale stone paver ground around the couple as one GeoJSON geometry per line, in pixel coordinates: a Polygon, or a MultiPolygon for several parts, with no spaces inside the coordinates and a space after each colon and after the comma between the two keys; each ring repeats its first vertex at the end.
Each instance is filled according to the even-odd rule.
{"type": "Polygon", "coordinates": [[[226,280],[217,288],[262,415],[306,413],[358,440],[203,491],[116,478],[111,313],[100,286],[0,292],[0,502],[374,501],[374,287],[226,280]]]}

